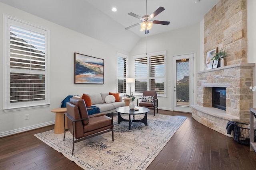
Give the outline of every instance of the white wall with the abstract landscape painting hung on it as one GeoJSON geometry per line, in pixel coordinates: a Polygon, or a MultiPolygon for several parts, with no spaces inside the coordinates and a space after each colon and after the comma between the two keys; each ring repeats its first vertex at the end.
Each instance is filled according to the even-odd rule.
{"type": "MultiPolygon", "coordinates": [[[[55,113],[68,95],[116,92],[116,52],[96,39],[72,31],[50,21],[0,3],[0,70],[3,70],[3,14],[50,29],[50,107],[4,112],[0,100],[0,136],[54,123],[55,113]],[[74,84],[74,52],[104,59],[104,84],[74,84]],[[28,120],[24,115],[29,114],[28,120]]],[[[3,75],[0,74],[0,96],[3,96],[3,75]]]]}

